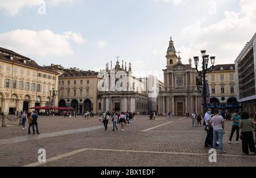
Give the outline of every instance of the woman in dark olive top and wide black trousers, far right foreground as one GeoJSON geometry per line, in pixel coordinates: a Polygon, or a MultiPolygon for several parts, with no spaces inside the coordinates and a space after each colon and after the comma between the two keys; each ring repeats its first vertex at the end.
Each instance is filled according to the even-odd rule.
{"type": "Polygon", "coordinates": [[[242,113],[241,121],[239,123],[239,128],[241,129],[241,139],[242,139],[242,150],[244,155],[249,155],[249,149],[251,152],[256,154],[256,148],[253,138],[253,130],[255,125],[253,121],[249,118],[249,113],[242,113]]]}

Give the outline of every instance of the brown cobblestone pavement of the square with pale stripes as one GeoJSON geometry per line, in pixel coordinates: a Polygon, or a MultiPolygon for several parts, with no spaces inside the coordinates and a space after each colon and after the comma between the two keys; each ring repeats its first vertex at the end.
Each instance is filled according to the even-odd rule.
{"type": "MultiPolygon", "coordinates": [[[[0,127],[0,166],[255,166],[256,156],[242,156],[240,144],[228,144],[232,122],[226,122],[225,155],[209,163],[204,127],[191,118],[137,116],[125,131],[108,131],[98,117],[40,117],[40,135],[27,135],[18,122],[0,127]],[[47,163],[38,164],[38,150],[47,163]]],[[[234,135],[236,136],[236,135],[234,135]]],[[[234,137],[233,137],[234,139],[234,137]]],[[[233,140],[234,142],[234,140],[233,140]]]]}

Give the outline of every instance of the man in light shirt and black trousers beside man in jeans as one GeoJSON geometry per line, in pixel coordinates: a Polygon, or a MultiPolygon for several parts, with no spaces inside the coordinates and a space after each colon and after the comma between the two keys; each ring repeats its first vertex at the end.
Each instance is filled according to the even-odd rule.
{"type": "Polygon", "coordinates": [[[212,146],[212,140],[213,140],[212,117],[210,116],[210,114],[212,114],[212,111],[210,109],[205,109],[204,125],[205,125],[205,131],[207,131],[207,137],[205,138],[205,143],[204,143],[205,148],[212,146]]]}

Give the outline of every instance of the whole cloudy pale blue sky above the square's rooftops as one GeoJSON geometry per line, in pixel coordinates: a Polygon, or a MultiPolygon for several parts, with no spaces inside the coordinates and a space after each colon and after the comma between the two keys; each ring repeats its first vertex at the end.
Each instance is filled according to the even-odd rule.
{"type": "Polygon", "coordinates": [[[163,80],[172,36],[183,64],[205,49],[232,64],[256,32],[255,0],[0,0],[0,47],[39,65],[131,63],[163,80]]]}

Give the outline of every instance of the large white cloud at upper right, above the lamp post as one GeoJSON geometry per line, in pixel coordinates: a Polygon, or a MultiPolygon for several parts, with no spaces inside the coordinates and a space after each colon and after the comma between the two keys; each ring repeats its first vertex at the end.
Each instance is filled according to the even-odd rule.
{"type": "Polygon", "coordinates": [[[183,28],[181,34],[188,45],[178,47],[183,61],[199,56],[200,50],[207,49],[216,56],[217,64],[234,63],[245,44],[256,32],[256,1],[240,0],[240,12],[225,11],[224,19],[203,26],[198,20],[183,28]],[[185,58],[185,59],[184,59],[185,58]]]}

